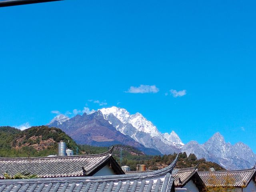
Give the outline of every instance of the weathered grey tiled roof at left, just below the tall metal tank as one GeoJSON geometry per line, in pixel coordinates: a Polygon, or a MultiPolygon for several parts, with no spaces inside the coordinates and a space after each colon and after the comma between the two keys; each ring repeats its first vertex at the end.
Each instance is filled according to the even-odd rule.
{"type": "Polygon", "coordinates": [[[0,179],[3,174],[14,175],[18,172],[36,174],[40,178],[92,176],[102,166],[111,164],[117,174],[124,174],[120,166],[108,152],[95,155],[56,156],[42,158],[0,158],[0,179]],[[84,170],[83,170],[84,168],[84,170]]]}

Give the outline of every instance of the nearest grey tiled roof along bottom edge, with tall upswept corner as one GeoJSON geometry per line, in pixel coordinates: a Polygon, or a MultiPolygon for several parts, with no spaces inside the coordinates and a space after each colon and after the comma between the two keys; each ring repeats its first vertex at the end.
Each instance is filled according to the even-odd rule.
{"type": "Polygon", "coordinates": [[[0,180],[0,192],[174,192],[171,172],[177,158],[170,166],[146,174],[0,180]]]}

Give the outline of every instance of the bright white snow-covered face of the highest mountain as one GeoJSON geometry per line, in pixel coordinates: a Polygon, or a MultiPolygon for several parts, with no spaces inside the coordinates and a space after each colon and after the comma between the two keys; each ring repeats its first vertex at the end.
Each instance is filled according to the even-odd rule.
{"type": "Polygon", "coordinates": [[[160,133],[152,122],[148,121],[142,114],[130,114],[126,109],[111,107],[100,109],[104,118],[113,124],[121,133],[130,136],[145,147],[159,150],[162,154],[179,152],[182,141],[172,131],[160,133]]]}

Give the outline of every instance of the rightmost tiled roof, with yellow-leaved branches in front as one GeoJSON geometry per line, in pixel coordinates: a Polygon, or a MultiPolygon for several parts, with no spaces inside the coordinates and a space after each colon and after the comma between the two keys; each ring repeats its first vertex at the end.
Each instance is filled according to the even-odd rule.
{"type": "Polygon", "coordinates": [[[236,171],[198,172],[206,186],[247,186],[256,175],[255,167],[236,171]]]}

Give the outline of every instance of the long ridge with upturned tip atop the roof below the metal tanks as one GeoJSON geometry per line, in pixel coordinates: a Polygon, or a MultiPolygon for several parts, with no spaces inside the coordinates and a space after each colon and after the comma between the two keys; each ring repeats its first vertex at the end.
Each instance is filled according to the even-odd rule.
{"type": "Polygon", "coordinates": [[[100,154],[86,154],[86,155],[73,155],[73,156],[54,156],[54,157],[16,157],[16,158],[0,158],[0,161],[16,161],[16,160],[51,160],[51,159],[76,159],[76,158],[90,158],[90,157],[101,157],[110,155],[114,150],[114,146],[112,146],[108,151],[100,154]]]}

